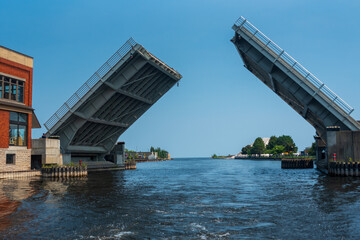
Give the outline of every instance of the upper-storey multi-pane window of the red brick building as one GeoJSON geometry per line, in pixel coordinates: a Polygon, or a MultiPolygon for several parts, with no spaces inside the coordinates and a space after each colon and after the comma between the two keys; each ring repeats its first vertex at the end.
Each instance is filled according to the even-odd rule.
{"type": "Polygon", "coordinates": [[[0,75],[0,99],[24,102],[25,82],[19,79],[0,75]]]}

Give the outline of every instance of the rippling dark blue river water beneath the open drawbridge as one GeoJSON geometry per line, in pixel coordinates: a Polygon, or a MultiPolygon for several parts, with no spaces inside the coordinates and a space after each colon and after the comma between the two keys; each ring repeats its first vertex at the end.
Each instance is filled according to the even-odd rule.
{"type": "Polygon", "coordinates": [[[0,239],[359,239],[360,180],[187,158],[0,180],[0,239]]]}

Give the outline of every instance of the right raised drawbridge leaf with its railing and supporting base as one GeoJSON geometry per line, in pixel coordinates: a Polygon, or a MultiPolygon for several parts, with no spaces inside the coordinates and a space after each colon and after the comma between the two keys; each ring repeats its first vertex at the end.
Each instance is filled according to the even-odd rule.
{"type": "MultiPolygon", "coordinates": [[[[360,131],[359,122],[350,116],[354,109],[244,17],[232,29],[235,36],[231,41],[245,68],[315,128],[317,167],[327,171],[328,158],[334,153],[341,161],[348,156],[360,158],[360,151],[346,149],[341,138],[344,132],[360,131]],[[340,131],[338,136],[333,133],[334,126],[340,131]]],[[[349,146],[360,141],[350,135],[346,135],[349,146]]]]}

